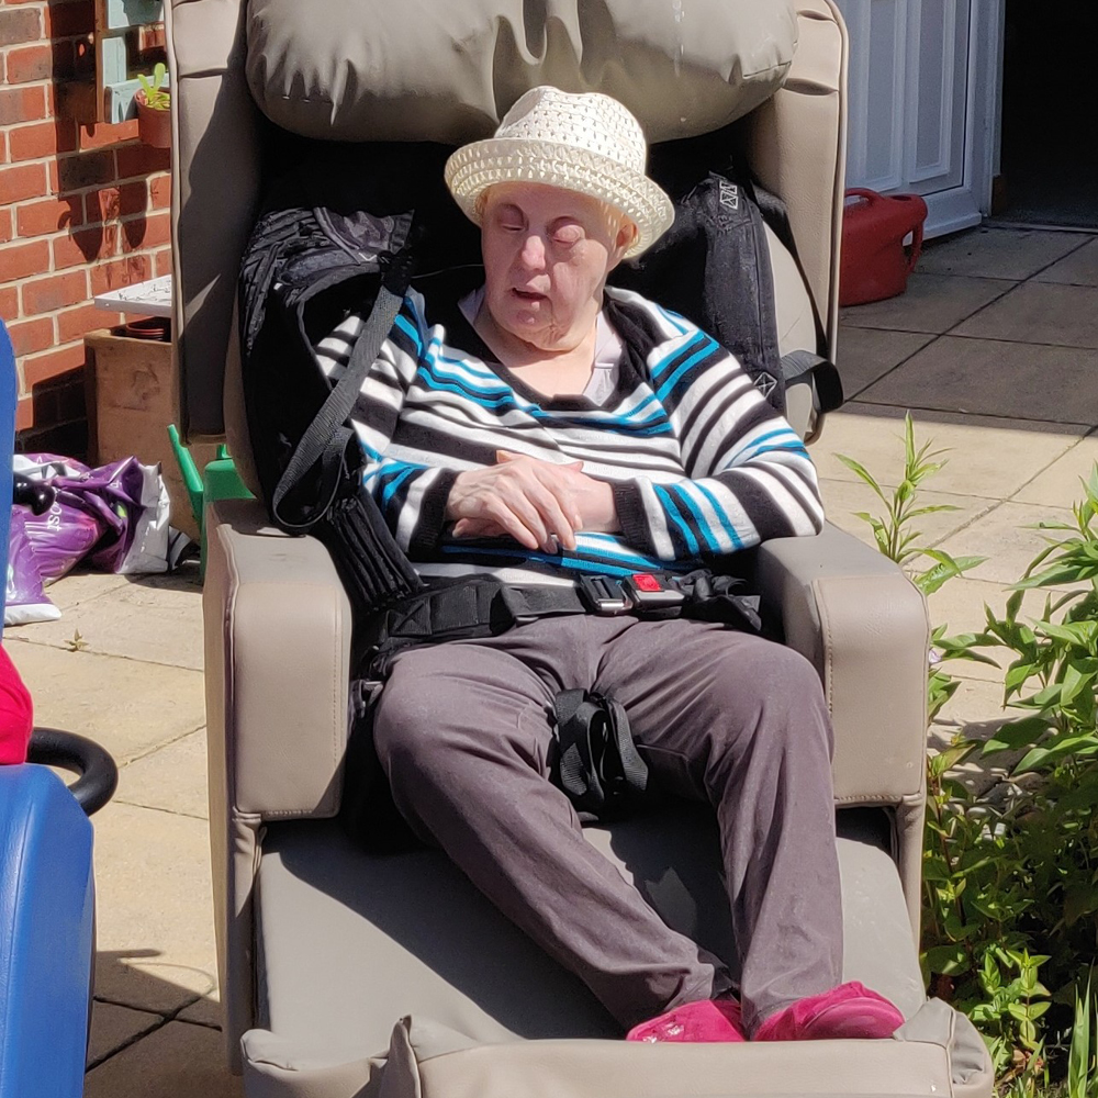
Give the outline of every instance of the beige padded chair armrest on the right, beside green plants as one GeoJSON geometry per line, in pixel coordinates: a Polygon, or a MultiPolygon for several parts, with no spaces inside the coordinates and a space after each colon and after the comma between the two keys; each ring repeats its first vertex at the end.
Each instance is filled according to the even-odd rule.
{"type": "Polygon", "coordinates": [[[839,804],[898,804],[923,787],[927,650],[922,593],[875,549],[827,525],[759,547],[755,583],[786,643],[816,665],[834,726],[839,804]]]}

